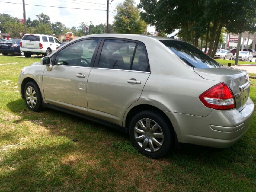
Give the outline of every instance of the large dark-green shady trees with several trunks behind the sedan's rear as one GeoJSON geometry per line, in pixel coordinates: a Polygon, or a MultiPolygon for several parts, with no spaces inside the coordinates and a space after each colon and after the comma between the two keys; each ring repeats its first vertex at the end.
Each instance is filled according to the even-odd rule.
{"type": "Polygon", "coordinates": [[[184,40],[196,47],[205,35],[212,57],[223,27],[232,33],[255,32],[256,28],[255,0],[140,0],[138,7],[144,9],[142,19],[156,30],[167,34],[185,30],[184,40]]]}

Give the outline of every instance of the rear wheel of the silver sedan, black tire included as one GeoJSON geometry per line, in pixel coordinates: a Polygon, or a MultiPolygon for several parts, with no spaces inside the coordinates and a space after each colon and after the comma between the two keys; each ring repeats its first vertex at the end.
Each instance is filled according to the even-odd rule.
{"type": "Polygon", "coordinates": [[[174,141],[172,126],[166,118],[163,118],[162,114],[156,111],[141,111],[136,114],[130,122],[129,134],[134,147],[140,153],[154,159],[164,156],[171,149],[172,142],[174,141]],[[143,122],[144,129],[146,129],[146,122],[150,122],[150,130],[142,130],[141,122],[143,122]],[[158,128],[153,130],[153,125],[158,128]],[[136,141],[136,138],[143,139],[136,141]],[[143,144],[145,145],[143,146],[143,144]]]}

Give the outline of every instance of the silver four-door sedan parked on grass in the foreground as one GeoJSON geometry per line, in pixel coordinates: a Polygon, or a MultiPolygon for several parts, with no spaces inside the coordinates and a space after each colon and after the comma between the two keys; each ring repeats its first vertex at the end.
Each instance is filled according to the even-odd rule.
{"type": "Polygon", "coordinates": [[[77,38],[24,67],[18,88],[30,110],[52,108],[129,133],[151,158],[184,143],[227,148],[254,112],[245,70],[159,36],[77,38]],[[120,51],[130,46],[134,51],[120,51]]]}

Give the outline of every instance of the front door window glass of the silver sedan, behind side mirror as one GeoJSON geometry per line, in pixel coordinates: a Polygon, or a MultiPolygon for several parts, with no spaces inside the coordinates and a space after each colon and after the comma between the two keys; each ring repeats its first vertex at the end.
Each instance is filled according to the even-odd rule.
{"type": "Polygon", "coordinates": [[[92,58],[98,39],[75,42],[60,50],[56,56],[56,65],[92,67],[92,58]]]}

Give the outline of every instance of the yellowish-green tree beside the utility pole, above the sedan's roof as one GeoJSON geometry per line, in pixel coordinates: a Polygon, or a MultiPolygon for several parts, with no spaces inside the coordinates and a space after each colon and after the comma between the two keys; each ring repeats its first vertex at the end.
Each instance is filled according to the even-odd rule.
{"type": "Polygon", "coordinates": [[[147,24],[140,20],[140,11],[134,4],[134,0],[124,0],[116,6],[113,28],[117,33],[145,34],[147,24]]]}

